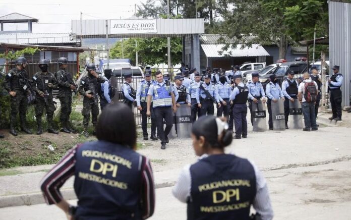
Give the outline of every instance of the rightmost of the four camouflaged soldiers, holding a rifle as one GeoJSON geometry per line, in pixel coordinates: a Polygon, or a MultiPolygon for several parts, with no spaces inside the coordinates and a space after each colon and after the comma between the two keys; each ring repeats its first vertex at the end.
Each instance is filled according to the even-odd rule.
{"type": "Polygon", "coordinates": [[[96,134],[95,129],[97,124],[97,116],[99,115],[98,93],[100,91],[99,88],[101,88],[100,84],[105,82],[103,78],[97,75],[94,64],[89,64],[87,66],[87,71],[88,71],[88,75],[82,78],[78,89],[79,93],[84,96],[82,115],[84,117],[83,134],[85,137],[89,137],[88,124],[90,120],[90,112],[92,116],[91,122],[93,123],[93,126],[94,126],[93,135],[96,134]]]}

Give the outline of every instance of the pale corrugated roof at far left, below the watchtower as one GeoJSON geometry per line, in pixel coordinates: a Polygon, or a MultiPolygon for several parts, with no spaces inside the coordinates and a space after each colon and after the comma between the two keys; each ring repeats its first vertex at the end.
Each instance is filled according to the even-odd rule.
{"type": "Polygon", "coordinates": [[[11,33],[0,34],[2,43],[19,43],[19,44],[49,44],[49,43],[75,43],[80,42],[75,35],[70,33],[11,33]]]}

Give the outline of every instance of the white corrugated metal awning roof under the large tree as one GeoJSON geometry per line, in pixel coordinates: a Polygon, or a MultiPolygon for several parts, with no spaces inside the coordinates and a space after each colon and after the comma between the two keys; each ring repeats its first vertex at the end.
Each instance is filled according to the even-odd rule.
{"type": "Polygon", "coordinates": [[[241,49],[242,44],[238,44],[236,49],[229,48],[221,55],[219,51],[222,50],[224,44],[201,44],[201,48],[208,58],[220,57],[260,57],[269,56],[269,53],[260,44],[252,44],[252,47],[245,47],[241,49]]]}

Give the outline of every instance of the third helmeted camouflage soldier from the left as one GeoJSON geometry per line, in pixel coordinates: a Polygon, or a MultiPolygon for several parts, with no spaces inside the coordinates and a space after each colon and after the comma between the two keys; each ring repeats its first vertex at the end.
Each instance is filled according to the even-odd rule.
{"type": "Polygon", "coordinates": [[[60,67],[60,70],[56,72],[55,76],[57,85],[59,85],[59,94],[57,94],[57,97],[61,103],[61,131],[76,133],[77,131],[70,126],[70,115],[72,112],[72,90],[76,90],[77,86],[72,80],[71,73],[66,71],[68,66],[67,58],[59,58],[57,64],[60,67]]]}

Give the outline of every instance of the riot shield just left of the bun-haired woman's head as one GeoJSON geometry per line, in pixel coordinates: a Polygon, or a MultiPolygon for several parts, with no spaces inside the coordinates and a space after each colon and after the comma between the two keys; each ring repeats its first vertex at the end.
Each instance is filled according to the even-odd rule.
{"type": "Polygon", "coordinates": [[[191,134],[191,110],[187,104],[181,104],[175,113],[175,125],[178,138],[190,138],[191,134]]]}

